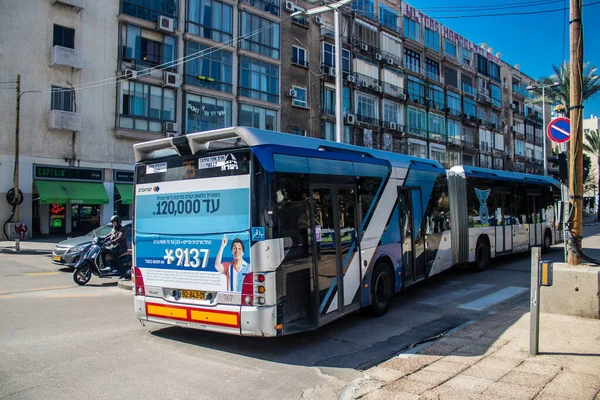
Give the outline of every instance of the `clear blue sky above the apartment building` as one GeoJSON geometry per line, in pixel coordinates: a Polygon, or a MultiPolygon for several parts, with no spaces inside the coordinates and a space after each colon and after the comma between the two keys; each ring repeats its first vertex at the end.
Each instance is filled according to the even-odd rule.
{"type": "MultiPolygon", "coordinates": [[[[407,3],[472,42],[486,43],[494,49],[494,53],[502,53],[503,61],[519,64],[520,70],[534,79],[551,75],[552,64],[559,65],[563,57],[566,61],[570,59],[569,11],[531,14],[564,9],[569,5],[567,0],[457,0],[456,3],[409,0],[407,3]],[[535,4],[531,5],[532,2],[535,4]],[[519,3],[525,3],[527,7],[519,3]],[[527,14],[464,18],[500,13],[527,14]],[[461,18],[445,18],[450,16],[461,18]]],[[[583,0],[583,4],[584,61],[600,68],[600,1],[583,0]],[[586,6],[587,3],[597,4],[586,6]]],[[[585,103],[583,111],[584,118],[591,114],[600,116],[600,93],[585,103]]]]}

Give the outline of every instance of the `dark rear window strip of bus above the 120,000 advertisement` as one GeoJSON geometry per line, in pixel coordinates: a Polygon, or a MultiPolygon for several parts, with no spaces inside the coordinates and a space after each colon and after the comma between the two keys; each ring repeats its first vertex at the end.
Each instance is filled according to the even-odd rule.
{"type": "Polygon", "coordinates": [[[250,152],[236,151],[170,158],[136,166],[135,183],[158,183],[185,179],[246,175],[250,172],[250,152]]]}

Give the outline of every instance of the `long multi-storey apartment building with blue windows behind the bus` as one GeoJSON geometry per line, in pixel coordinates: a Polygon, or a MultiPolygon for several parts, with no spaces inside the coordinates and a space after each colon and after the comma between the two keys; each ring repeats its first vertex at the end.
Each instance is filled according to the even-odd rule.
{"type": "MultiPolygon", "coordinates": [[[[20,219],[30,233],[130,217],[139,141],[230,125],[334,140],[338,72],[346,143],[448,167],[542,172],[533,80],[399,0],[344,9],[341,68],[332,13],[290,18],[313,7],[302,0],[9,3],[0,82],[19,73],[35,91],[22,96],[20,118],[20,219]]],[[[0,91],[6,121],[14,104],[14,92],[0,91]]],[[[0,131],[4,197],[14,125],[0,131]]],[[[11,209],[2,202],[0,216],[11,209]]]]}

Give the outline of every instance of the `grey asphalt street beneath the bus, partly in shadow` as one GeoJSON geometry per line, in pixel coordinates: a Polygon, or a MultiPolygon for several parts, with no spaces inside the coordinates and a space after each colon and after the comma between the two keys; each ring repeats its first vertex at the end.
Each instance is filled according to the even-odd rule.
{"type": "MultiPolygon", "coordinates": [[[[544,258],[560,261],[562,247],[544,258]]],[[[78,287],[48,255],[2,253],[0,399],[337,398],[400,351],[527,304],[529,270],[528,254],[494,260],[482,273],[454,269],[397,295],[381,318],[356,314],[260,339],[142,326],[116,280],[78,287]]]]}

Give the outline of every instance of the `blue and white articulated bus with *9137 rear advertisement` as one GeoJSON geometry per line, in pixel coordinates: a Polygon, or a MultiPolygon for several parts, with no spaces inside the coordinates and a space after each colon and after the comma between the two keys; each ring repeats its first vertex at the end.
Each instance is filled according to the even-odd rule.
{"type": "Polygon", "coordinates": [[[475,169],[403,154],[244,127],[134,149],[142,321],[271,337],[360,308],[382,315],[395,292],[453,265],[485,268],[505,252],[495,251],[499,229],[517,225],[497,222],[512,218],[502,196],[520,192],[516,183],[496,182],[501,210],[482,218],[496,193],[467,191],[495,187],[491,175],[471,183],[475,169]]]}

